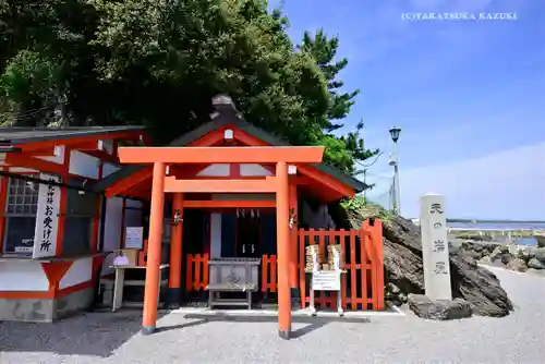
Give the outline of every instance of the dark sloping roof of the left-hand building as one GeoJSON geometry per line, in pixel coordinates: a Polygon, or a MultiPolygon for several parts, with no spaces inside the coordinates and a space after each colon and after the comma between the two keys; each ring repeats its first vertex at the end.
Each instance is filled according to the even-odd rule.
{"type": "Polygon", "coordinates": [[[82,126],[82,128],[0,128],[0,144],[17,145],[48,139],[69,139],[73,137],[107,135],[136,132],[145,126],[82,126]]]}

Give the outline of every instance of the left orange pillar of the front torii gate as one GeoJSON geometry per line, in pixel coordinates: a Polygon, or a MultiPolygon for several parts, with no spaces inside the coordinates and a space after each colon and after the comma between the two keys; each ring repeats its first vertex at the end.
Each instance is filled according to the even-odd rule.
{"type": "Polygon", "coordinates": [[[154,332],[157,324],[162,215],[165,208],[165,172],[166,167],[164,162],[154,163],[152,209],[149,211],[149,242],[147,246],[146,283],[144,290],[144,315],[142,319],[142,333],[144,335],[154,332]]]}

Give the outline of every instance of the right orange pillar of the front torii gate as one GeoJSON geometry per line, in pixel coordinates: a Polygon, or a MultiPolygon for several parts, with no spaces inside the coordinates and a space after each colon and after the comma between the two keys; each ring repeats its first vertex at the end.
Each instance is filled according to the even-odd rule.
{"type": "Polygon", "coordinates": [[[276,225],[278,254],[278,335],[289,339],[291,333],[290,295],[290,196],[288,189],[288,166],[276,165],[276,225]]]}

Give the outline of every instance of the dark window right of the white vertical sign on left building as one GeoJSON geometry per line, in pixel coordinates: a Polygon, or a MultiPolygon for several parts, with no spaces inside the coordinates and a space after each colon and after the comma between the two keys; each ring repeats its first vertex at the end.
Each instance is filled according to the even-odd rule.
{"type": "MultiPolygon", "coordinates": [[[[70,179],[70,184],[83,186],[83,180],[70,179]]],[[[62,254],[90,253],[93,219],[99,202],[98,195],[75,189],[68,189],[66,195],[62,254]]]]}

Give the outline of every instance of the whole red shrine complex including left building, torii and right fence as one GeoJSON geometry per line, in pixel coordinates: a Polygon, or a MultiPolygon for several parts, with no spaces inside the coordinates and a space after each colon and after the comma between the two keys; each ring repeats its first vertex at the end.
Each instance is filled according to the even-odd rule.
{"type": "Polygon", "coordinates": [[[160,306],[187,301],[272,301],[282,338],[295,305],[384,308],[380,221],[344,231],[327,210],[365,184],[324,163],[324,147],[289,146],[244,121],[229,97],[213,107],[165,147],[141,126],[0,130],[0,320],[51,321],[112,286],[114,311],[138,267],[144,333],[160,306]],[[313,244],[342,251],[337,293],[310,296],[313,244]],[[120,248],[126,269],[113,265],[120,248]]]}

